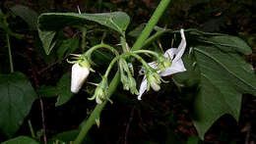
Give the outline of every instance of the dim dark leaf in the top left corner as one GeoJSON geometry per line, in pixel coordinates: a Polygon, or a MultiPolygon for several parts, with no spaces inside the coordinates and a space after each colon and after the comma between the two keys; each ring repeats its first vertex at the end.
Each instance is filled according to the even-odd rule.
{"type": "Polygon", "coordinates": [[[23,5],[15,5],[10,9],[16,16],[21,17],[29,24],[32,29],[36,29],[38,16],[31,8],[23,5]]]}

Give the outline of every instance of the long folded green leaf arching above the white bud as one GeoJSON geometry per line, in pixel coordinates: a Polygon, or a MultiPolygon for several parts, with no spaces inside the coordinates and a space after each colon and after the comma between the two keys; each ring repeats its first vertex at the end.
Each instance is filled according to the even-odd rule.
{"type": "Polygon", "coordinates": [[[130,23],[130,17],[123,12],[101,14],[44,13],[39,16],[38,24],[41,29],[56,30],[67,25],[83,25],[86,21],[105,25],[123,34],[130,23]]]}

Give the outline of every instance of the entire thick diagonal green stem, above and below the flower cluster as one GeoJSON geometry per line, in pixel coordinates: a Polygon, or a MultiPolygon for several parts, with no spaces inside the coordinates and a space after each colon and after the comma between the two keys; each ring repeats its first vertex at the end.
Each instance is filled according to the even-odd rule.
{"type": "MultiPolygon", "coordinates": [[[[148,38],[148,36],[150,35],[154,26],[160,20],[160,16],[162,15],[163,11],[165,10],[165,8],[167,7],[169,2],[170,2],[170,0],[161,0],[160,1],[159,7],[157,8],[155,13],[153,14],[151,20],[149,21],[149,24],[145,27],[145,29],[143,30],[139,39],[137,39],[137,41],[136,41],[134,47],[132,48],[132,50],[141,49],[142,45],[144,44],[144,41],[148,38]]],[[[108,89],[109,90],[108,91],[108,99],[111,97],[111,95],[115,91],[119,82],[120,82],[120,72],[118,71],[118,72],[115,73],[114,78],[110,82],[109,89],[108,89]]],[[[74,144],[81,144],[81,142],[83,141],[83,139],[87,135],[88,131],[92,128],[92,126],[94,124],[96,124],[96,119],[99,118],[99,115],[100,115],[100,113],[101,113],[101,111],[104,108],[106,103],[107,103],[107,101],[104,101],[102,104],[96,105],[96,108],[95,108],[94,112],[91,114],[90,118],[85,121],[85,124],[83,125],[79,135],[75,139],[74,144]]]]}

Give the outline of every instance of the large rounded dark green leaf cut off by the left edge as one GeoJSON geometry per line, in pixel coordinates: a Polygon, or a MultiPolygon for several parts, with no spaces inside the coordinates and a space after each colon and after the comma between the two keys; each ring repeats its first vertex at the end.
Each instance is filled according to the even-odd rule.
{"type": "Polygon", "coordinates": [[[1,131],[11,137],[29,115],[35,99],[32,84],[23,73],[0,74],[1,131]]]}

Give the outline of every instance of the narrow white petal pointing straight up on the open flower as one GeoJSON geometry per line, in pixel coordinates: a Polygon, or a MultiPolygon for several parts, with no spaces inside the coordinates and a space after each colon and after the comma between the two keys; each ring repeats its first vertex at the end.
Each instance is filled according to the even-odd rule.
{"type": "Polygon", "coordinates": [[[176,56],[172,62],[175,62],[175,61],[178,61],[179,59],[181,59],[181,57],[185,51],[186,45],[187,45],[185,34],[184,34],[184,29],[180,29],[180,35],[181,35],[182,39],[181,39],[181,42],[176,50],[176,56]]]}

